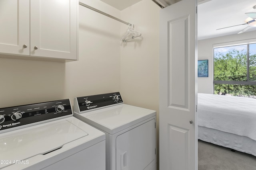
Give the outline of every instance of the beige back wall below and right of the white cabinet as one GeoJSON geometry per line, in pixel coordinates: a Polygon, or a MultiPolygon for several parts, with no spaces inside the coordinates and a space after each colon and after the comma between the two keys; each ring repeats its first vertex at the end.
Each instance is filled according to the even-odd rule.
{"type": "MultiPolygon", "coordinates": [[[[110,15],[98,0],[80,0],[110,15]]],[[[0,58],[0,107],[120,91],[120,23],[79,6],[79,61],[0,58]]]]}

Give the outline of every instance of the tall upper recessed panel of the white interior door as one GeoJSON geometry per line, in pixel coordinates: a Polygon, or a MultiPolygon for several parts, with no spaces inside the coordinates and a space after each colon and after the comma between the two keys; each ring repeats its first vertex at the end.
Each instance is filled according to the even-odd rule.
{"type": "Polygon", "coordinates": [[[168,22],[170,107],[188,109],[188,29],[188,16],[168,22]],[[180,31],[181,34],[176,34],[180,31]]]}

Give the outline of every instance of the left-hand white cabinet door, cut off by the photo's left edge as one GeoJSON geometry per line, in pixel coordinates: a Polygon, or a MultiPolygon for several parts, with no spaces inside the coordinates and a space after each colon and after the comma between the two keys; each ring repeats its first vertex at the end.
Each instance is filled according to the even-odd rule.
{"type": "Polygon", "coordinates": [[[29,55],[29,0],[0,0],[0,53],[29,55]]]}

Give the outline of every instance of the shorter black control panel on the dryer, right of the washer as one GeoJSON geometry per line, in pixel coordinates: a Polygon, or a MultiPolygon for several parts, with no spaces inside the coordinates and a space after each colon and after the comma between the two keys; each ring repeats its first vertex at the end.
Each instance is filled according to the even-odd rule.
{"type": "Polygon", "coordinates": [[[80,111],[110,106],[123,102],[119,92],[78,97],[77,101],[80,111]]]}

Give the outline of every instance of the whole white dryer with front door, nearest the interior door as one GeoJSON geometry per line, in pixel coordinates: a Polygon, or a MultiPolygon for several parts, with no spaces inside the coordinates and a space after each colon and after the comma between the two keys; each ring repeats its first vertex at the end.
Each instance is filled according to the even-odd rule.
{"type": "Polygon", "coordinates": [[[116,92],[75,98],[74,116],[106,134],[106,170],[156,170],[156,111],[116,92]]]}

